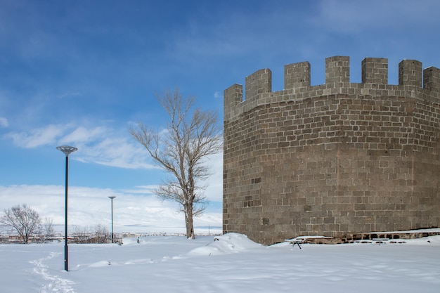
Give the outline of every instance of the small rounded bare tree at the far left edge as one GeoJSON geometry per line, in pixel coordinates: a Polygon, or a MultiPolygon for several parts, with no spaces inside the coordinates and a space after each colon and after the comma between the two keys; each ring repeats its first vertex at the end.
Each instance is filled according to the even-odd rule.
{"type": "Polygon", "coordinates": [[[29,237],[34,233],[38,233],[41,220],[37,211],[34,211],[26,204],[16,205],[11,209],[4,210],[4,216],[0,218],[0,223],[13,228],[18,235],[22,237],[23,243],[29,242],[29,237]]]}

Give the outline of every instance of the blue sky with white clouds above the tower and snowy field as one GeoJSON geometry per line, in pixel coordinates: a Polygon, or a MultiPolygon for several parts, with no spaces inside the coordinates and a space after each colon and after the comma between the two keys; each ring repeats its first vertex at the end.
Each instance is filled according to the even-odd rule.
{"type": "MultiPolygon", "coordinates": [[[[155,93],[179,86],[223,117],[223,91],[270,68],[308,60],[311,84],[325,58],[440,67],[439,1],[25,1],[0,0],[0,209],[27,203],[63,223],[64,155],[70,155],[70,223],[145,229],[183,225],[176,206],[151,189],[162,173],[128,127],[161,129],[155,93]],[[181,222],[181,223],[180,223],[181,222]]],[[[221,154],[209,161],[212,204],[196,226],[221,226],[221,154]]],[[[143,230],[145,230],[143,229],[143,230]]],[[[196,231],[197,232],[197,231],[196,231]]]]}

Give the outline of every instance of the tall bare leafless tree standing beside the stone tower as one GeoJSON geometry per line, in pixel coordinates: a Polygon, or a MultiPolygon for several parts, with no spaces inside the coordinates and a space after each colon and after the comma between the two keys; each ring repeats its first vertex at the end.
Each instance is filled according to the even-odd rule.
{"type": "Polygon", "coordinates": [[[154,131],[139,122],[129,132],[169,176],[155,190],[161,200],[174,200],[185,214],[186,237],[194,239],[193,216],[205,211],[207,198],[202,181],[210,173],[207,156],[221,150],[221,125],[217,113],[194,108],[195,98],[183,98],[179,89],[157,96],[170,122],[154,131]]]}

